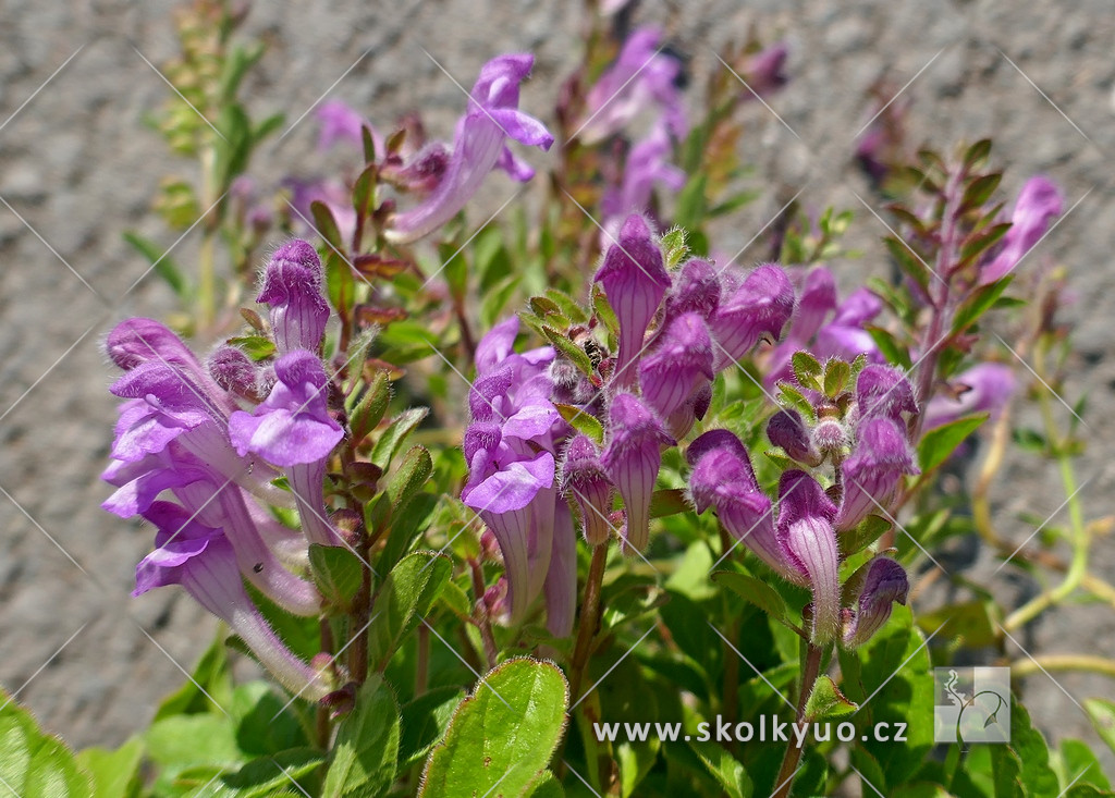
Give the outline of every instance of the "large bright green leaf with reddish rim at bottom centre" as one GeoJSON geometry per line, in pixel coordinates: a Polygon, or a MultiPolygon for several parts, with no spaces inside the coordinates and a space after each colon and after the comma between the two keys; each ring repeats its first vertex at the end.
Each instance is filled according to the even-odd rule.
{"type": "Polygon", "coordinates": [[[426,760],[419,796],[521,796],[539,784],[565,729],[569,685],[556,665],[496,665],[457,707],[426,760]]]}

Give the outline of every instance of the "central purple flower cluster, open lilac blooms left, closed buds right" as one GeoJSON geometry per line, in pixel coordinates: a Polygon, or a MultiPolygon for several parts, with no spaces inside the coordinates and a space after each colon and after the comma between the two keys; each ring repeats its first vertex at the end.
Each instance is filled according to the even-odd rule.
{"type": "Polygon", "coordinates": [[[552,347],[516,353],[517,319],[498,324],[477,347],[464,439],[462,499],[500,543],[511,620],[522,621],[544,591],[559,635],[569,633],[575,605],[571,508],[590,545],[618,529],[629,551],[644,549],[663,448],[704,417],[716,372],[776,339],[794,309],[778,266],[717,272],[694,259],[671,274],[638,214],[595,281],[618,321],[614,353],[593,340],[601,357],[585,374],[552,347]],[[556,405],[594,417],[603,437],[578,432],[556,405]]]}

